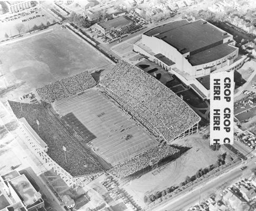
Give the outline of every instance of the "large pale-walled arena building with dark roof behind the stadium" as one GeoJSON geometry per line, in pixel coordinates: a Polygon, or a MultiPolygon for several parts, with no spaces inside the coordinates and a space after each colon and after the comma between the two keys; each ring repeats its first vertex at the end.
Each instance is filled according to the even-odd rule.
{"type": "Polygon", "coordinates": [[[238,70],[245,59],[231,34],[204,20],[155,27],[134,44],[134,51],[177,75],[203,99],[210,92],[200,78],[213,71],[238,70]]]}

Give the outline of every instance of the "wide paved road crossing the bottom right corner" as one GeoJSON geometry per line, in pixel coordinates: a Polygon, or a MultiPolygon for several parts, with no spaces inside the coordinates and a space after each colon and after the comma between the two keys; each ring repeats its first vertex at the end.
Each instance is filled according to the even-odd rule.
{"type": "Polygon", "coordinates": [[[238,166],[231,169],[230,171],[225,172],[224,174],[197,186],[193,190],[189,190],[188,193],[178,196],[177,198],[174,198],[173,200],[170,200],[169,202],[166,202],[152,210],[153,211],[187,210],[189,207],[198,204],[200,198],[202,202],[204,198],[207,198],[211,194],[215,193],[216,189],[220,188],[222,185],[225,185],[225,184],[230,185],[232,181],[239,179],[243,174],[249,175],[251,172],[251,169],[255,167],[255,164],[254,164],[255,160],[256,160],[255,158],[250,159],[247,162],[247,164],[245,164],[246,166],[248,166],[248,168],[245,171],[240,170],[242,164],[239,164],[238,166]]]}

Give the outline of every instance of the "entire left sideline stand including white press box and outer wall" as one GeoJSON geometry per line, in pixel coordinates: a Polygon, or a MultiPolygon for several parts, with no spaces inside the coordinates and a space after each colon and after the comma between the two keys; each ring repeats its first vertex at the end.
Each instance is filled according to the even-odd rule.
{"type": "Polygon", "coordinates": [[[30,146],[70,185],[79,178],[92,179],[105,170],[92,156],[86,143],[70,136],[59,120],[43,105],[15,101],[8,101],[8,104],[30,146]],[[63,146],[67,150],[67,162],[63,146]]]}

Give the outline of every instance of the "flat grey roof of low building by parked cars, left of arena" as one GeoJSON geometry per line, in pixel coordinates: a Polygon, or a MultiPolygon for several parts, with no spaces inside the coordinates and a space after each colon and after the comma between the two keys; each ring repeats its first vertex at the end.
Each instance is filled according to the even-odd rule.
{"type": "Polygon", "coordinates": [[[100,23],[98,23],[102,28],[109,29],[109,28],[117,28],[117,27],[124,27],[127,25],[130,25],[134,23],[134,21],[132,21],[129,17],[127,16],[120,16],[117,18],[114,18],[112,20],[109,21],[102,21],[100,23]]]}

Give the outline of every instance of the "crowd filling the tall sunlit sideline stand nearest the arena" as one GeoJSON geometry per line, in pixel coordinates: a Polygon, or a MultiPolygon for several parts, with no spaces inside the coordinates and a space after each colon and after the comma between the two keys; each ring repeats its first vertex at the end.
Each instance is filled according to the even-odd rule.
{"type": "Polygon", "coordinates": [[[135,119],[167,141],[200,121],[174,92],[125,61],[119,61],[100,85],[135,119]]]}

